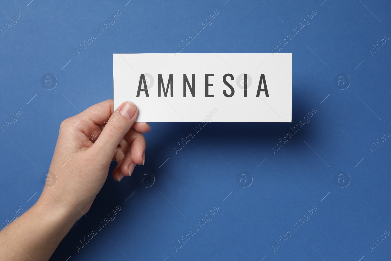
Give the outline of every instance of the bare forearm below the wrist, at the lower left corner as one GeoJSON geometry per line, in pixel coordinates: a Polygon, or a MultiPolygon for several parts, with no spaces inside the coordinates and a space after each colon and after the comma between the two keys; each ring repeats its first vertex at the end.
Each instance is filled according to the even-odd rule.
{"type": "Polygon", "coordinates": [[[0,260],[48,260],[76,220],[74,214],[38,200],[0,232],[0,260]]]}

